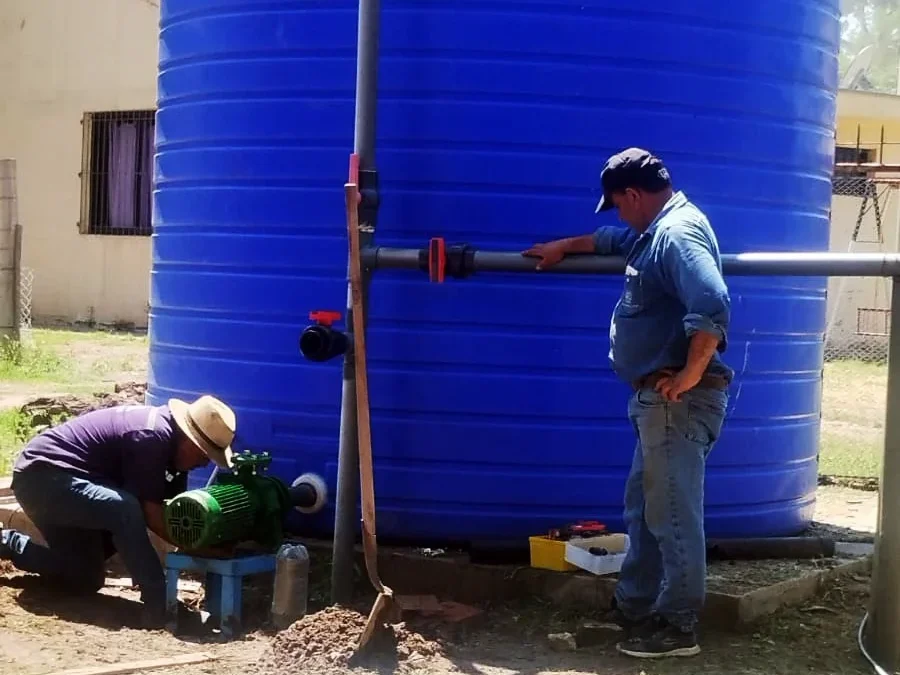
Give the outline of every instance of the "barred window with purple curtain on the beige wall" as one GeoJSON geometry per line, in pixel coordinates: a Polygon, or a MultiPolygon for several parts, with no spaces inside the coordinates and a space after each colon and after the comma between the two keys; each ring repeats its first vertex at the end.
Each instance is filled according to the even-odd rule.
{"type": "Polygon", "coordinates": [[[155,112],[90,112],[82,126],[79,230],[150,235],[155,112]]]}

